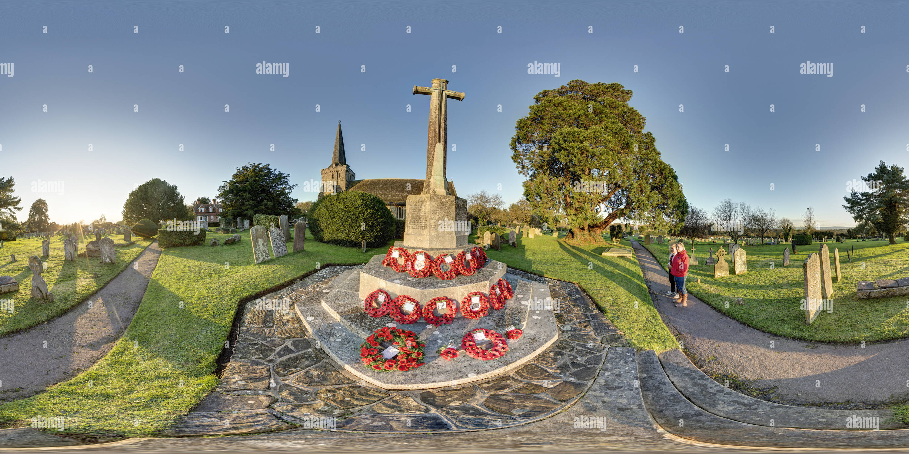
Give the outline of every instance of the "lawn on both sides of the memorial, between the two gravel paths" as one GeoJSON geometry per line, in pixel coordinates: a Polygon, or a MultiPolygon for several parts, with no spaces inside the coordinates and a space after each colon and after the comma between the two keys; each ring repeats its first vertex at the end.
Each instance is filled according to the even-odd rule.
{"type": "MultiPolygon", "coordinates": [[[[233,245],[162,252],[145,298],[114,349],[73,380],[0,406],[0,424],[62,415],[67,418],[65,432],[154,435],[195,407],[217,384],[212,373],[215,359],[239,301],[314,270],[316,262],[363,263],[388,247],[363,253],[307,236],[304,252],[254,265],[249,233],[240,235],[242,241],[233,245]]],[[[212,238],[223,243],[228,236],[209,232],[205,243],[212,238]]],[[[505,246],[488,255],[517,269],[578,283],[635,347],[674,348],[638,264],[602,257],[603,249],[571,247],[546,236],[521,237],[517,248],[505,246]]]]}

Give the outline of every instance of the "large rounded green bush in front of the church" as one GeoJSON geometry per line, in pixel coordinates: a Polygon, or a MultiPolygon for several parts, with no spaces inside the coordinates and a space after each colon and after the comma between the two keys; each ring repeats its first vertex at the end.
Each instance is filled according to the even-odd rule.
{"type": "Polygon", "coordinates": [[[395,217],[373,194],[345,191],[313,203],[306,218],[317,242],[339,246],[385,246],[395,236],[395,217]]]}

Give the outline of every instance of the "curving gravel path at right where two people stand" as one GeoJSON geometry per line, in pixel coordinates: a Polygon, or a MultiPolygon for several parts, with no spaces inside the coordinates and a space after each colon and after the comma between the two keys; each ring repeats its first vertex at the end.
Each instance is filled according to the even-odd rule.
{"type": "Polygon", "coordinates": [[[664,295],[669,291],[666,271],[643,245],[632,243],[663,321],[708,374],[754,380],[751,384],[758,389],[775,387],[771,400],[794,405],[837,403],[842,404],[840,408],[863,408],[905,400],[909,394],[909,341],[864,348],[794,341],[744,326],[691,293],[688,306],[676,308],[664,295]]]}

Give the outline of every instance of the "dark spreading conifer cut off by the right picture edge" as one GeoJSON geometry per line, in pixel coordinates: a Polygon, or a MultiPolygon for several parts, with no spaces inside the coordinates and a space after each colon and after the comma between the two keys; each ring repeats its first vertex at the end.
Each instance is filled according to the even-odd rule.
{"type": "Polygon", "coordinates": [[[848,196],[843,197],[846,204],[843,208],[853,215],[859,226],[870,225],[869,230],[883,232],[896,244],[895,233],[909,222],[906,209],[909,208],[909,179],[903,168],[893,164],[888,166],[884,161],[877,164],[873,173],[862,177],[867,183],[863,192],[852,188],[848,196]],[[864,190],[870,191],[864,191],[864,190]]]}

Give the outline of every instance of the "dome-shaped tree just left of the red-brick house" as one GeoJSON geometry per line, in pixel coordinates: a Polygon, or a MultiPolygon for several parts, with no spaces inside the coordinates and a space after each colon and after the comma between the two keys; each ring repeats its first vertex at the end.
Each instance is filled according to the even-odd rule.
{"type": "Polygon", "coordinates": [[[183,195],[176,185],[167,184],[160,178],[140,184],[129,193],[123,205],[123,220],[127,225],[148,219],[152,222],[168,219],[189,219],[183,195]]]}

